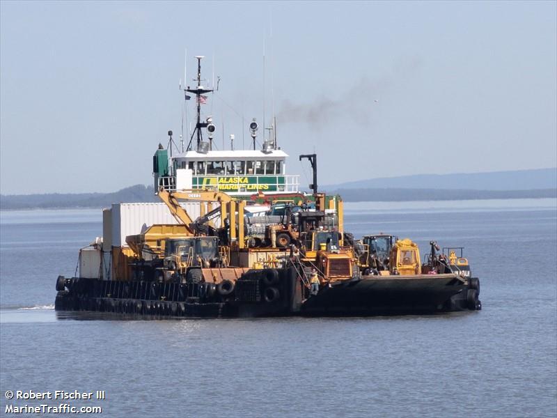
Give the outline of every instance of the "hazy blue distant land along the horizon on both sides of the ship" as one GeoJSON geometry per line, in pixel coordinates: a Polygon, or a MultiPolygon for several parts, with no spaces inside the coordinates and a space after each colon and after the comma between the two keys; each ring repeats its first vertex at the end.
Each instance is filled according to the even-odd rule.
{"type": "MultiPolygon", "coordinates": [[[[375,178],[321,186],[320,191],[340,194],[344,201],[556,198],[557,169],[375,178]]],[[[118,202],[159,201],[152,186],[135,185],[113,193],[0,195],[0,209],[108,208],[118,202]]]]}

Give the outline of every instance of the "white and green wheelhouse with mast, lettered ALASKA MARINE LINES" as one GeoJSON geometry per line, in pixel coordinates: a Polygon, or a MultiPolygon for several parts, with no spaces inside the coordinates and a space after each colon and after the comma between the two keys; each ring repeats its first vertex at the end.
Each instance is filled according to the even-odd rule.
{"type": "MultiPolygon", "coordinates": [[[[205,88],[201,79],[201,59],[198,60],[197,86],[185,88],[188,95],[195,96],[196,125],[189,138],[185,150],[175,150],[173,153],[172,132],[168,148],[159,146],[153,157],[153,176],[155,190],[164,187],[168,192],[182,189],[214,188],[219,192],[226,192],[232,196],[251,196],[258,192],[272,194],[296,194],[299,192],[299,176],[286,173],[286,159],[288,154],[276,146],[276,131],[272,139],[262,142],[260,149],[256,149],[258,123],[254,118],[249,123],[253,149],[251,150],[213,150],[215,125],[212,117],[201,118],[201,104],[207,102],[204,94],[212,93],[211,88],[205,88]]],[[[231,148],[233,135],[231,135],[231,148]]]]}

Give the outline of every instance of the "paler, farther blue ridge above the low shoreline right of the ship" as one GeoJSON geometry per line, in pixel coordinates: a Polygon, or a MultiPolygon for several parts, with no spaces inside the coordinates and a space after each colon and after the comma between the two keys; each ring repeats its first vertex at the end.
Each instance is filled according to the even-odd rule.
{"type": "Polygon", "coordinates": [[[468,189],[531,190],[557,189],[557,168],[494,171],[490,173],[418,174],[357,180],[322,189],[468,189]]]}

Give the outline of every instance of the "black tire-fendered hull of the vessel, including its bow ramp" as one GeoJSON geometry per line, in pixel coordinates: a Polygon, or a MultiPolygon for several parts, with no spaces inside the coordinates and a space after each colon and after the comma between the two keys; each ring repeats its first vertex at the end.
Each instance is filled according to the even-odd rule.
{"type": "Polygon", "coordinates": [[[154,318],[374,316],[481,309],[479,289],[471,289],[454,274],[363,277],[322,286],[307,299],[295,269],[274,270],[271,279],[265,270],[246,273],[228,294],[219,294],[210,284],[64,277],[58,278],[56,288],[57,311],[154,318]]]}

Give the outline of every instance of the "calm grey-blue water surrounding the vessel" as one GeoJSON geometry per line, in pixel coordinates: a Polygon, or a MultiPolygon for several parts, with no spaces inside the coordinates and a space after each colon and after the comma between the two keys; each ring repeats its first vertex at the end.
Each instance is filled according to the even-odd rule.
{"type": "Polygon", "coordinates": [[[483,311],[265,320],[79,320],[58,274],[99,210],[1,212],[8,390],[94,392],[104,417],[557,417],[557,202],[349,203],[346,228],[466,247],[483,311]]]}

